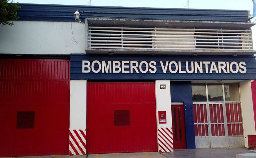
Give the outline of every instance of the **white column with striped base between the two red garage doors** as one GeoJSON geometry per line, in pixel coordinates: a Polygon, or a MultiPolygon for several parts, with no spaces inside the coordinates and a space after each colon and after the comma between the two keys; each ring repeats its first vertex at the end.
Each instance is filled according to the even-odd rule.
{"type": "Polygon", "coordinates": [[[70,81],[69,155],[86,154],[86,80],[70,81]]]}

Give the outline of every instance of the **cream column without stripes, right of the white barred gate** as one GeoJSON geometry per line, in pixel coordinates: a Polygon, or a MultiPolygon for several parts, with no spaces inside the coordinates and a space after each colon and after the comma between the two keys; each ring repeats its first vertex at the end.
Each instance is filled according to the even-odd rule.
{"type": "Polygon", "coordinates": [[[248,148],[248,135],[255,135],[255,123],[253,113],[253,98],[251,81],[246,80],[239,83],[240,98],[243,117],[243,129],[245,137],[245,147],[248,148]]]}

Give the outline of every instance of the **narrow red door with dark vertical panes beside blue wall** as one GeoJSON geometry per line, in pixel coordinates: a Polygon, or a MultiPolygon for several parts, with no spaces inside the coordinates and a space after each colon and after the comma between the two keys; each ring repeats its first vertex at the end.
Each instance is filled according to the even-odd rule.
{"type": "Polygon", "coordinates": [[[185,149],[184,105],[172,105],[173,148],[185,149]]]}

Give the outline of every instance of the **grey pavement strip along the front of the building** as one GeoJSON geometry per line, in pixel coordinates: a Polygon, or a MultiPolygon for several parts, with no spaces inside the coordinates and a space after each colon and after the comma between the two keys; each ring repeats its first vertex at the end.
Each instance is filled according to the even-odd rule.
{"type": "MultiPolygon", "coordinates": [[[[25,156],[26,158],[235,158],[236,154],[255,153],[246,148],[206,148],[206,149],[176,149],[172,153],[141,152],[91,154],[83,156],[55,155],[55,156],[25,156]]],[[[19,158],[25,158],[19,157],[19,158]]],[[[10,158],[10,157],[9,157],[10,158]]],[[[14,158],[14,157],[13,157],[14,158]]],[[[16,157],[15,157],[16,158],[16,157]]]]}

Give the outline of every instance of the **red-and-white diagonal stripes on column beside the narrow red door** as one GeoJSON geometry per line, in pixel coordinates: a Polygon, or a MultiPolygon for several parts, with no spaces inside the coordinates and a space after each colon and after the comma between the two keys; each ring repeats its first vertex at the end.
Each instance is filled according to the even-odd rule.
{"type": "Polygon", "coordinates": [[[172,128],[158,128],[158,149],[159,152],[173,152],[172,128]]]}

